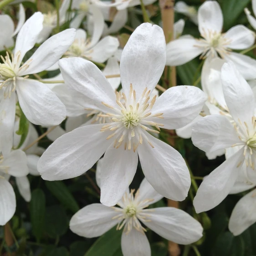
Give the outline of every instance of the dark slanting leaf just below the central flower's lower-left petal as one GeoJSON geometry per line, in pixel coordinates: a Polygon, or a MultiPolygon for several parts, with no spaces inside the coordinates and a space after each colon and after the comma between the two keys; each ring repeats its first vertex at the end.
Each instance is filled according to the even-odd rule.
{"type": "Polygon", "coordinates": [[[49,189],[60,202],[65,205],[73,213],[79,210],[77,201],[67,189],[67,186],[62,181],[46,181],[46,187],[49,189]]]}

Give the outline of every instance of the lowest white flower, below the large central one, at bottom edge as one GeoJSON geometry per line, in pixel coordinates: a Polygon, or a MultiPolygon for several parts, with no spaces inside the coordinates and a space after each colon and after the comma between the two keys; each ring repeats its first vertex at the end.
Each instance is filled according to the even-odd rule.
{"type": "MultiPolygon", "coordinates": [[[[167,240],[178,244],[191,244],[202,237],[200,223],[183,210],[173,207],[145,209],[163,197],[143,179],[134,195],[132,189],[123,195],[119,207],[101,204],[87,205],[73,215],[70,229],[79,236],[97,237],[117,225],[123,227],[121,247],[123,256],[150,256],[150,245],[145,235],[146,229],[140,221],[151,230],[167,240]]],[[[117,231],[118,232],[118,231],[117,231]]]]}

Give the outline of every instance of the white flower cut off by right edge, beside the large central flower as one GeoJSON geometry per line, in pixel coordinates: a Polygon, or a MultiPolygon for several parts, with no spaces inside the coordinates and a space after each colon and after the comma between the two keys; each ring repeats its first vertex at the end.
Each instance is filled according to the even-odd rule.
{"type": "Polygon", "coordinates": [[[194,200],[197,212],[210,210],[220,204],[242,171],[248,181],[256,183],[254,94],[232,62],[223,65],[221,80],[225,102],[234,123],[231,124],[223,115],[201,118],[192,128],[192,141],[205,152],[234,147],[236,153],[211,172],[200,185],[194,200]],[[243,168],[244,163],[246,168],[243,168]]]}

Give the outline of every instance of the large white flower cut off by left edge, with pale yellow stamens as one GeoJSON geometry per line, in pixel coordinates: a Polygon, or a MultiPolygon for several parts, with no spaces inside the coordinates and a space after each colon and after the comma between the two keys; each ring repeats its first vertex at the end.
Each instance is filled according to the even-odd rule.
{"type": "Polygon", "coordinates": [[[75,30],[69,29],[45,41],[22,64],[26,52],[35,45],[42,29],[43,15],[36,12],[20,29],[14,54],[1,56],[0,64],[0,146],[3,155],[10,151],[15,121],[16,94],[23,113],[31,122],[38,125],[57,125],[66,117],[66,108],[46,85],[28,79],[29,74],[44,71],[60,59],[72,44],[75,30]],[[11,142],[11,143],[10,143],[11,142]]]}

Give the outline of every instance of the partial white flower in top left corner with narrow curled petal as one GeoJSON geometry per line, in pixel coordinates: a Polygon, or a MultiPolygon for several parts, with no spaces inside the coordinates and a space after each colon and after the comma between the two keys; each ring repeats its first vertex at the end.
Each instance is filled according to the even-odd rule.
{"type": "Polygon", "coordinates": [[[5,47],[9,48],[14,45],[13,37],[20,31],[25,19],[25,10],[21,4],[16,29],[14,29],[14,22],[9,15],[0,15],[0,51],[5,50],[5,47]]]}

